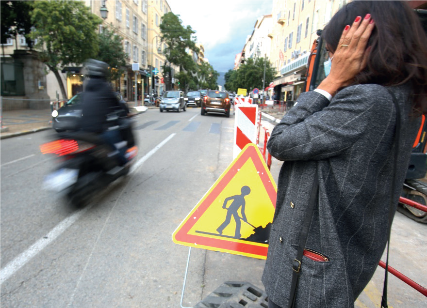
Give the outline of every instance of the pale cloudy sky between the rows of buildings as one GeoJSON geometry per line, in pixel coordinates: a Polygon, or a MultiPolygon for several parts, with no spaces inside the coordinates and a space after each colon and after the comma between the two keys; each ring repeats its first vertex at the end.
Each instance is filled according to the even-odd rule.
{"type": "Polygon", "coordinates": [[[273,0],[167,0],[184,27],[196,31],[197,42],[217,72],[234,66],[258,17],[271,14],[273,0]]]}

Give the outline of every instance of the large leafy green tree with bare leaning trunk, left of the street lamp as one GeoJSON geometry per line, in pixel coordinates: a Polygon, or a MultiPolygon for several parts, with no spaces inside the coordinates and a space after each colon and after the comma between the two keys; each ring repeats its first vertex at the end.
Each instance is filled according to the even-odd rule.
{"type": "Polygon", "coordinates": [[[40,61],[55,74],[62,95],[64,84],[59,75],[60,66],[81,64],[98,54],[96,29],[102,20],[90,13],[80,0],[34,0],[31,18],[35,27],[32,37],[40,61]]]}

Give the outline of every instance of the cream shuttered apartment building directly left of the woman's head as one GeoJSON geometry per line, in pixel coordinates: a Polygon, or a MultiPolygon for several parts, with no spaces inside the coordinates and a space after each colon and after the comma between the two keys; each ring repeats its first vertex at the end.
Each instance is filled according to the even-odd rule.
{"type": "MultiPolygon", "coordinates": [[[[277,69],[276,100],[293,102],[306,80],[307,62],[317,30],[350,0],[274,0],[270,61],[277,69]]],[[[273,94],[273,93],[272,93],[273,94]]]]}

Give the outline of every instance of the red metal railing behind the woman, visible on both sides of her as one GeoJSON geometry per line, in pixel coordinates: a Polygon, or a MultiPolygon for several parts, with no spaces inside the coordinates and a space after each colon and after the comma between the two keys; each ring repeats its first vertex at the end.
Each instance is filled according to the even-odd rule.
{"type": "MultiPolygon", "coordinates": [[[[286,106],[286,105],[283,105],[286,106]]],[[[270,132],[268,131],[268,129],[266,129],[262,124],[261,124],[261,118],[262,118],[262,114],[260,112],[260,119],[258,121],[258,128],[257,128],[257,146],[260,149],[261,153],[263,154],[263,158],[265,159],[265,154],[267,154],[267,159],[266,159],[266,163],[267,163],[267,167],[270,170],[271,167],[271,154],[268,153],[267,151],[267,141],[270,138],[270,132]],[[264,131],[264,138],[263,138],[263,144],[260,146],[260,133],[261,130],[264,131]]],[[[412,201],[410,199],[404,198],[404,197],[400,197],[399,198],[399,202],[409,205],[413,208],[416,208],[418,210],[421,210],[423,212],[427,213],[427,206],[420,204],[418,202],[412,201]]],[[[385,269],[385,263],[380,261],[379,266],[381,266],[382,268],[385,269]]],[[[416,283],[415,281],[413,281],[411,278],[403,275],[402,273],[400,273],[399,271],[397,271],[396,269],[394,269],[393,267],[391,267],[390,265],[388,266],[388,272],[392,275],[394,275],[395,277],[399,278],[400,280],[402,280],[403,282],[405,282],[406,284],[408,284],[409,286],[411,286],[412,288],[414,288],[415,290],[417,290],[418,292],[420,292],[421,294],[423,294],[424,296],[427,296],[427,288],[424,288],[423,286],[421,286],[420,284],[416,283]]]]}

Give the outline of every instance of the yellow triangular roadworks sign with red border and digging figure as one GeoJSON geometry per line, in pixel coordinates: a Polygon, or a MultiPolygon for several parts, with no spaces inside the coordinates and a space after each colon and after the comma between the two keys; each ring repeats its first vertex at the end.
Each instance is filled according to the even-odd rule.
{"type": "Polygon", "coordinates": [[[267,257],[277,186],[258,147],[247,144],[172,235],[176,244],[267,257]]]}

